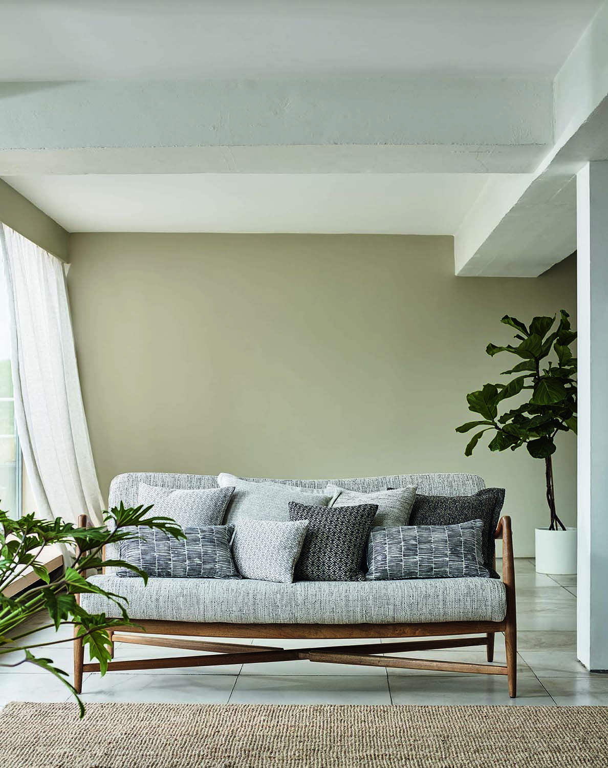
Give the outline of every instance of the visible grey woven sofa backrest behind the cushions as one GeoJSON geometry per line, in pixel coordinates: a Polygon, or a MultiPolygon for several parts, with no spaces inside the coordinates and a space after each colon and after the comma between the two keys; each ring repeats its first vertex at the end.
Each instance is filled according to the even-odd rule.
{"type": "MultiPolygon", "coordinates": [[[[299,485],[303,488],[325,488],[339,485],[350,491],[368,493],[385,488],[404,488],[418,485],[418,493],[438,496],[470,496],[485,483],[478,475],[431,474],[431,475],[380,475],[375,478],[332,478],[330,480],[285,480],[276,478],[244,478],[256,482],[278,482],[299,485]]],[[[170,472],[127,472],[117,475],[110,485],[110,508],[123,502],[126,507],[137,506],[137,489],[140,482],[162,488],[217,488],[216,475],[176,475],[170,472]]]]}

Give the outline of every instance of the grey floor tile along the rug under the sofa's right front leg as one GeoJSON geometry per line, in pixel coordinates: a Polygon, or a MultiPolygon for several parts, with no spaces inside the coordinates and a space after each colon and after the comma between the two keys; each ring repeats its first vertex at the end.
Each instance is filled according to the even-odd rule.
{"type": "Polygon", "coordinates": [[[481,674],[389,675],[395,704],[496,704],[551,707],[554,702],[536,677],[520,677],[517,698],[509,698],[507,677],[481,674]]]}

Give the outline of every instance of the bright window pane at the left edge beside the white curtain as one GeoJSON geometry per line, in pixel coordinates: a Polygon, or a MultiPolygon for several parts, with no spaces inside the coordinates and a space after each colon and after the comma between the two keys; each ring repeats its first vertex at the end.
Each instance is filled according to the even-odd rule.
{"type": "Polygon", "coordinates": [[[21,514],[21,451],[15,429],[10,345],[5,277],[0,270],[0,509],[17,517],[21,514]]]}

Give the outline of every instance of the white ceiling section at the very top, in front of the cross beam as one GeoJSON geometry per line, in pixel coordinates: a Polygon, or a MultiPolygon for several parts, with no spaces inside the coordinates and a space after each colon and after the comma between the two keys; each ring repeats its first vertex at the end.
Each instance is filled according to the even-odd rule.
{"type": "Polygon", "coordinates": [[[0,79],[553,78],[600,0],[2,0],[0,79]]]}

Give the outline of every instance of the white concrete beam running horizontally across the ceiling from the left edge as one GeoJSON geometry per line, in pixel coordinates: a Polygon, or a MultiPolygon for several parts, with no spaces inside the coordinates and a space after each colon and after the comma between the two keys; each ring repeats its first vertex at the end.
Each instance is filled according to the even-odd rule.
{"type": "Polygon", "coordinates": [[[521,173],[552,141],[547,81],[0,84],[4,175],[66,164],[72,173],[521,173]]]}

